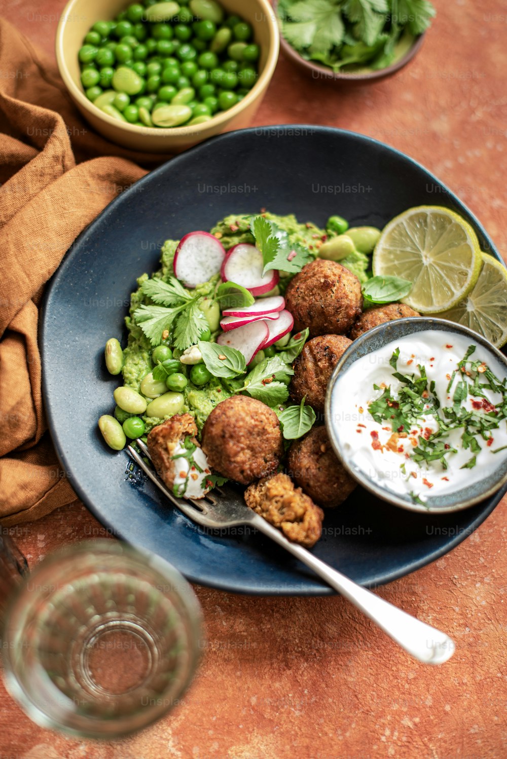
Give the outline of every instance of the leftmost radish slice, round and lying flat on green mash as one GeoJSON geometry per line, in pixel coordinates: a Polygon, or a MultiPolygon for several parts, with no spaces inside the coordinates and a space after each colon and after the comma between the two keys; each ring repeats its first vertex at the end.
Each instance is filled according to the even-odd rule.
{"type": "Polygon", "coordinates": [[[175,276],[194,288],[218,274],[225,260],[222,243],[209,232],[189,232],[181,238],[173,263],[175,276]]]}

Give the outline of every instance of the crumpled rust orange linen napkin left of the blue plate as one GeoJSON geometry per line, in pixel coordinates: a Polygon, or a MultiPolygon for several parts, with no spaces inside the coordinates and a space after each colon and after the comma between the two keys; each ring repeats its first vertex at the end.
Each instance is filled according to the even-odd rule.
{"type": "Polygon", "coordinates": [[[146,174],[132,161],[162,156],[131,153],[96,134],[55,64],[2,19],[0,132],[0,524],[7,526],[76,499],[43,411],[44,284],[80,231],[146,174]]]}

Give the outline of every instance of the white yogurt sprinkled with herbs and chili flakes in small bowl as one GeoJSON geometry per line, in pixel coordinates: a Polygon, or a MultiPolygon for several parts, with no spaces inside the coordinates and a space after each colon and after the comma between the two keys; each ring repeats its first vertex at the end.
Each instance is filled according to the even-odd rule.
{"type": "MultiPolygon", "coordinates": [[[[499,422],[499,429],[489,433],[493,439],[486,441],[477,434],[475,437],[480,451],[474,453],[471,448],[464,449],[461,436],[463,428],[450,430],[444,438],[434,438],[434,442],[442,441],[456,452],[445,455],[447,468],[441,460],[414,461],[414,449],[424,446],[425,440],[432,433],[439,431],[438,417],[445,419],[442,408],[453,405],[453,396],[458,383],[467,379],[473,382],[473,376],[457,372],[448,392],[452,373],[458,367],[466,354],[469,345],[477,345],[474,354],[468,362],[484,361],[487,367],[501,382],[505,377],[502,364],[489,353],[483,351],[478,344],[464,335],[452,332],[427,330],[407,335],[402,339],[385,345],[378,351],[354,361],[354,364],[338,377],[332,389],[331,416],[332,426],[341,444],[342,456],[351,468],[362,471],[380,487],[393,493],[406,495],[412,493],[414,499],[425,501],[428,496],[442,495],[461,490],[467,485],[487,477],[499,464],[507,458],[507,449],[497,449],[507,446],[507,420],[499,422]],[[390,395],[396,401],[400,389],[405,387],[400,379],[393,377],[396,370],[389,364],[393,351],[399,348],[396,370],[402,375],[421,376],[420,367],[425,367],[428,378],[428,389],[433,380],[435,383],[433,395],[438,398],[440,408],[430,411],[424,404],[424,416],[410,429],[393,429],[392,420],[381,423],[373,419],[370,403],[383,395],[390,388],[390,395]],[[373,389],[373,385],[380,389],[373,389]],[[420,437],[424,440],[421,442],[420,437]],[[475,465],[471,464],[475,455],[475,465]]],[[[470,368],[470,363],[467,364],[470,368]]],[[[481,370],[483,367],[480,367],[481,370]]],[[[480,382],[487,382],[483,371],[479,373],[480,382]]],[[[493,406],[501,405],[502,394],[490,389],[483,389],[487,402],[493,406]]],[[[431,400],[431,393],[428,400],[431,400]]],[[[474,410],[481,417],[486,417],[491,408],[483,404],[483,398],[470,395],[461,402],[461,408],[474,410]],[[480,406],[480,408],[478,408],[480,406]]],[[[498,414],[496,414],[498,415],[498,414]]],[[[501,416],[501,414],[500,414],[501,416]]]]}

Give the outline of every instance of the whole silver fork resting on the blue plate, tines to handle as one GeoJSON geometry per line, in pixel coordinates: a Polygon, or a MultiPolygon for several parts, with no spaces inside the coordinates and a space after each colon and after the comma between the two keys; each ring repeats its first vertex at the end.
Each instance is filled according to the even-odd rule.
{"type": "MultiPolygon", "coordinates": [[[[143,454],[151,461],[150,452],[144,443],[136,441],[143,454]]],[[[357,609],[370,617],[379,628],[383,629],[393,641],[411,654],[415,659],[426,664],[441,664],[452,657],[455,644],[445,633],[436,630],[426,622],[407,614],[392,606],[389,601],[376,596],[365,587],[357,585],[348,577],[337,572],[317,559],[313,553],[306,550],[298,543],[291,543],[281,531],[274,528],[263,517],[253,512],[244,502],[244,498],[232,487],[225,486],[215,488],[203,499],[178,498],[159,478],[156,471],[137,453],[128,446],[128,452],[150,480],[162,490],[162,493],[174,505],[178,506],[189,519],[209,529],[236,527],[239,524],[249,524],[251,527],[263,532],[279,546],[296,556],[301,562],[313,569],[320,578],[326,581],[335,591],[357,606],[357,609]]]]}

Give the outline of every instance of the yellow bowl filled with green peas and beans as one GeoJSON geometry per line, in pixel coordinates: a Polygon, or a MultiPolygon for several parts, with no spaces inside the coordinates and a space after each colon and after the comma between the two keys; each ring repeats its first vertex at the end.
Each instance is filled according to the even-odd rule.
{"type": "Polygon", "coordinates": [[[268,0],[71,0],[56,40],[61,77],[90,124],[151,153],[247,126],[278,50],[268,0]]]}

